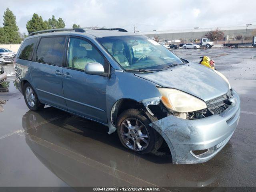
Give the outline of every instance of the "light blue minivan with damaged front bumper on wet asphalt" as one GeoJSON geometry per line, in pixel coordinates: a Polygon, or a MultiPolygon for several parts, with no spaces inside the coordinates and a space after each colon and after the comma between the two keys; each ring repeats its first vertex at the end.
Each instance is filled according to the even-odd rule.
{"type": "Polygon", "coordinates": [[[239,120],[240,99],[224,75],[119,28],[33,32],[14,66],[30,110],[50,105],[94,120],[138,153],[164,140],[174,164],[210,160],[239,120]]]}

